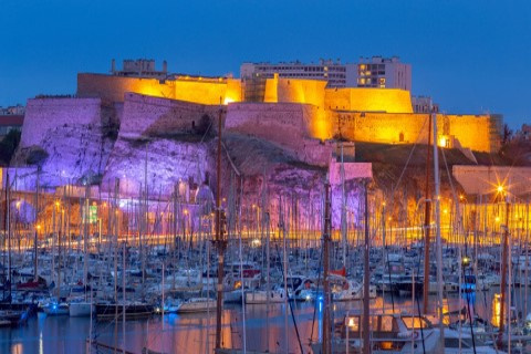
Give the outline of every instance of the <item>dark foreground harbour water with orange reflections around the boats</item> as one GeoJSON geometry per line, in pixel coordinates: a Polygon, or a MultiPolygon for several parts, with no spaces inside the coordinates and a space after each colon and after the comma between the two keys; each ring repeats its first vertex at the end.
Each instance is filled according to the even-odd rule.
{"type": "MultiPolygon", "coordinates": [[[[478,293],[473,301],[476,310],[482,317],[492,320],[492,298],[494,291],[478,293]]],[[[531,293],[531,289],[530,289],[531,293]]],[[[523,290],[522,290],[523,294],[523,290]]],[[[514,302],[523,311],[523,296],[519,290],[514,294],[514,302]]],[[[391,311],[407,311],[412,309],[412,298],[393,298],[385,295],[372,301],[372,309],[391,311]]],[[[445,310],[461,309],[466,302],[457,295],[445,302],[445,310]]],[[[317,303],[292,303],[299,330],[300,343],[290,311],[284,304],[271,304],[268,313],[266,305],[247,305],[243,325],[242,306],[227,305],[222,316],[222,342],[225,347],[242,348],[248,351],[267,351],[271,353],[300,353],[300,345],[304,353],[310,351],[310,339],[321,337],[322,305],[317,303]],[[243,336],[243,332],[246,335],[243,336]],[[247,339],[243,343],[243,337],[247,339]]],[[[358,301],[334,304],[336,319],[346,311],[360,309],[358,301]]],[[[420,304],[421,308],[421,304],[420,304]]],[[[435,309],[435,298],[430,298],[430,308],[435,309]]],[[[494,306],[496,309],[496,306],[494,306]]],[[[415,313],[417,304],[415,303],[415,313]]],[[[531,306],[530,306],[531,311],[531,306]]],[[[525,315],[525,314],[523,314],[525,315]]],[[[142,353],[144,347],[164,353],[212,353],[216,335],[215,309],[210,313],[165,315],[149,320],[127,321],[125,331],[122,320],[117,322],[94,322],[91,332],[91,321],[87,317],[51,317],[44,313],[29,320],[28,324],[17,329],[0,329],[0,353],[87,353],[86,340],[92,333],[95,341],[105,345],[124,347],[132,353],[142,353]],[[124,337],[125,333],[125,337],[124,337]],[[125,340],[125,341],[124,341],[125,340]],[[125,342],[125,343],[124,343],[125,342]]],[[[92,353],[96,353],[93,348],[92,353]]],[[[100,350],[97,353],[112,353],[100,350]]]]}

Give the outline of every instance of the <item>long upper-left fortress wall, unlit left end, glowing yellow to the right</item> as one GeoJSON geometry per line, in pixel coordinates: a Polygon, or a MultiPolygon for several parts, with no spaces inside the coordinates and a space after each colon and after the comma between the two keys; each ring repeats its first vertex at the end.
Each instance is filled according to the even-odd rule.
{"type": "Polygon", "coordinates": [[[241,82],[233,79],[157,79],[123,77],[103,74],[77,74],[77,95],[123,102],[127,92],[154,97],[181,100],[201,104],[219,104],[242,100],[241,82]]]}

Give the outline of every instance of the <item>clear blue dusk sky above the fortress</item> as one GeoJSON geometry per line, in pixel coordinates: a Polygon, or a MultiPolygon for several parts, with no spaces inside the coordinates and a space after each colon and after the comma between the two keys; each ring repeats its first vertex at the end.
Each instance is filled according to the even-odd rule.
{"type": "Polygon", "coordinates": [[[0,106],[73,94],[111,59],[239,76],[244,61],[398,55],[447,113],[531,122],[531,1],[1,0],[0,106]]]}

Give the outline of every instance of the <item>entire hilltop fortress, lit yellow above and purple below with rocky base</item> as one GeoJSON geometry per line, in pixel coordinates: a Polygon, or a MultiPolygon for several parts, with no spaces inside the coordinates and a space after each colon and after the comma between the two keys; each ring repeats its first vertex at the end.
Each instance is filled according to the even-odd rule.
{"type": "MultiPolygon", "coordinates": [[[[21,190],[34,190],[39,168],[41,188],[55,195],[62,186],[88,184],[96,188],[93,196],[158,198],[152,205],[159,206],[177,192],[194,205],[201,184],[214,186],[214,140],[221,118],[222,194],[232,192],[231,176],[241,177],[235,188],[248,205],[259,204],[268,189],[271,220],[278,218],[280,196],[312,205],[314,209],[305,209],[311,219],[319,216],[327,173],[333,195],[341,196],[335,142],[353,142],[343,178],[348,209],[357,210],[361,189],[355,180],[372,171],[371,164],[354,163],[355,144],[426,144],[429,117],[414,113],[409,92],[397,88],[329,88],[325,81],[278,75],[238,80],[80,73],[75,96],[28,101],[12,166],[18,166],[21,190]]],[[[470,164],[475,152],[500,147],[498,115],[437,114],[437,144],[461,150],[470,164]]],[[[335,226],[339,214],[334,205],[335,226]]]]}

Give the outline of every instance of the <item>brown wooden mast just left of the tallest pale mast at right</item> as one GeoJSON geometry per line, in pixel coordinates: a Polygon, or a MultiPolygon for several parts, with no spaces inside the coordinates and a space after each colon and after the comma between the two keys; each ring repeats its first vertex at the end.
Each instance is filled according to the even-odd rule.
{"type": "MultiPolygon", "coordinates": [[[[431,111],[431,110],[430,110],[431,111]]],[[[430,170],[430,156],[431,152],[431,117],[428,116],[428,146],[426,152],[426,188],[425,188],[425,210],[424,210],[424,313],[428,312],[428,290],[429,290],[429,217],[431,214],[431,201],[429,199],[429,170],[430,170]]],[[[437,142],[434,140],[434,145],[437,142]]]]}

